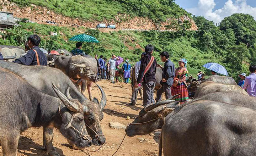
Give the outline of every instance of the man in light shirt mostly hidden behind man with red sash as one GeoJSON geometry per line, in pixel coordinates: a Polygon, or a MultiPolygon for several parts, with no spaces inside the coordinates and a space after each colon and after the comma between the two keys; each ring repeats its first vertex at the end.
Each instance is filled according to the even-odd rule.
{"type": "MultiPolygon", "coordinates": [[[[146,53],[143,52],[141,55],[141,58],[144,57],[145,54],[146,53]]],[[[136,81],[137,81],[137,78],[139,75],[141,58],[140,58],[140,61],[136,62],[136,64],[135,64],[135,79],[136,79],[136,81]]],[[[133,87],[131,102],[128,104],[129,106],[134,106],[136,104],[139,90],[140,90],[140,87],[138,87],[138,88],[133,87]]]]}

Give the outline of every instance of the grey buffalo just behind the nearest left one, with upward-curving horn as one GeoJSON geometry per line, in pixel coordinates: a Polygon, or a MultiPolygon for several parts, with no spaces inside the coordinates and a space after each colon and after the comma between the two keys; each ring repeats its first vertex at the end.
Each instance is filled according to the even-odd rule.
{"type": "Polygon", "coordinates": [[[106,106],[106,94],[101,90],[102,100],[99,104],[88,100],[71,80],[59,69],[45,67],[45,66],[23,66],[17,63],[0,61],[0,67],[7,69],[25,79],[34,88],[42,91],[50,96],[55,96],[55,92],[52,90],[52,83],[55,84],[62,93],[66,94],[66,90],[70,88],[70,95],[74,99],[87,107],[88,113],[84,114],[85,122],[97,133],[101,135],[95,135],[95,132],[88,128],[88,132],[92,137],[92,143],[95,145],[101,145],[105,143],[105,137],[102,134],[100,121],[103,118],[103,109],[106,106]]]}

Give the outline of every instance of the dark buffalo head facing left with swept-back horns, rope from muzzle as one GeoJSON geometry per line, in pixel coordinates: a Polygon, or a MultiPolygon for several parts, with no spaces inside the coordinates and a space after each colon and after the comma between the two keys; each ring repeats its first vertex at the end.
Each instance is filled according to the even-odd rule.
{"type": "MultiPolygon", "coordinates": [[[[174,98],[176,98],[176,95],[171,97],[170,99],[174,98]]],[[[145,106],[139,112],[139,116],[126,128],[126,134],[129,137],[133,137],[135,135],[149,134],[156,129],[161,129],[162,125],[164,124],[163,118],[172,111],[174,111],[174,107],[176,107],[176,105],[178,104],[177,101],[170,99],[145,106]]]]}

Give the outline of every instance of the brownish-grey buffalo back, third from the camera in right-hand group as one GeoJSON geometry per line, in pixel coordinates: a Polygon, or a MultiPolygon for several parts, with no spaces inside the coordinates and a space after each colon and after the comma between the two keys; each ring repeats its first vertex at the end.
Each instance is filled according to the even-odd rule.
{"type": "Polygon", "coordinates": [[[206,94],[210,94],[214,92],[222,92],[222,91],[233,91],[238,94],[248,95],[246,91],[238,85],[229,85],[229,84],[215,83],[212,81],[206,81],[199,85],[194,95],[194,98],[200,98],[206,94]]]}

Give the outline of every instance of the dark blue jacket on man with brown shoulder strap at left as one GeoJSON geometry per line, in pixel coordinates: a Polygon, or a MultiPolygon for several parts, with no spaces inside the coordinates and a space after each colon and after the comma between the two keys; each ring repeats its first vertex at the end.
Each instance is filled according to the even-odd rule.
{"type": "MultiPolygon", "coordinates": [[[[47,57],[44,53],[39,49],[38,46],[33,46],[32,49],[37,51],[39,63],[41,66],[47,66],[47,57]]],[[[13,61],[14,63],[20,63],[22,65],[37,65],[36,53],[34,50],[28,50],[27,54],[22,56],[20,59],[16,59],[13,61]]]]}

